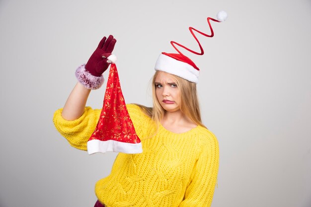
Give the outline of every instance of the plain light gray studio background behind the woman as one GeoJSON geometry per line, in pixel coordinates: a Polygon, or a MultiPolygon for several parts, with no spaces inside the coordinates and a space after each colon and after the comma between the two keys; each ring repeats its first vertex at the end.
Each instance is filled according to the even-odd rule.
{"type": "Polygon", "coordinates": [[[187,27],[208,33],[222,9],[215,37],[198,35],[205,55],[186,53],[220,145],[212,206],[310,207],[311,0],[0,0],[0,207],[91,207],[116,154],[87,155],[54,128],[75,69],[113,34],[127,103],[151,105],[158,54],[170,40],[197,49],[187,27]]]}

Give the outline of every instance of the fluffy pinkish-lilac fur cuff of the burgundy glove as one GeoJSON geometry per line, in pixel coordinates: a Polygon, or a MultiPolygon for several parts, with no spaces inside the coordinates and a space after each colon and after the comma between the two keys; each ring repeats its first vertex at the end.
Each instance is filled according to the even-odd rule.
{"type": "Polygon", "coordinates": [[[104,83],[104,77],[93,76],[87,70],[85,70],[85,64],[79,66],[76,70],[76,78],[85,88],[95,90],[99,89],[104,83]]]}

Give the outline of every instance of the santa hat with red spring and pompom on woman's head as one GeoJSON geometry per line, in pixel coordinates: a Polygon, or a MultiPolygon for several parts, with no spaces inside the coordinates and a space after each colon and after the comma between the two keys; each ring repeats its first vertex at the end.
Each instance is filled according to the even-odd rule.
{"type": "Polygon", "coordinates": [[[195,36],[193,30],[200,33],[201,35],[206,36],[206,37],[213,37],[214,31],[213,31],[213,28],[211,26],[210,20],[215,21],[215,22],[222,22],[222,21],[225,21],[227,19],[227,17],[228,17],[228,14],[225,11],[220,11],[217,14],[217,20],[213,19],[211,17],[207,18],[207,22],[208,22],[210,29],[211,29],[211,35],[200,32],[199,30],[197,30],[193,27],[189,27],[189,30],[190,30],[192,36],[194,37],[194,39],[199,44],[201,52],[192,51],[192,50],[186,48],[185,46],[180,45],[179,43],[171,41],[170,42],[171,45],[173,46],[173,48],[178,53],[162,52],[156,60],[155,70],[167,72],[167,73],[179,76],[183,79],[186,79],[190,82],[198,83],[198,77],[199,77],[200,69],[195,65],[195,63],[189,57],[182,54],[176,48],[175,45],[182,47],[182,48],[186,49],[187,51],[192,52],[194,54],[198,54],[198,55],[204,54],[203,48],[202,48],[200,42],[198,41],[197,37],[195,36]]]}

